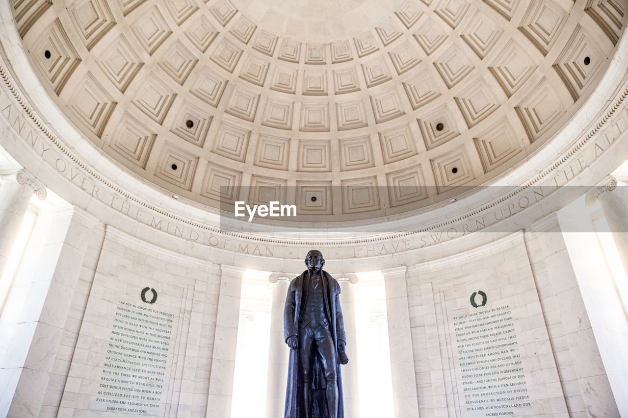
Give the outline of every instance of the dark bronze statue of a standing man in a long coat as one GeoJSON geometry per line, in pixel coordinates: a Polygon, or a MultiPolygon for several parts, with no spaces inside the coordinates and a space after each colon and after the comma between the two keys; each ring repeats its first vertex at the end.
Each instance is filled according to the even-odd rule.
{"type": "Polygon", "coordinates": [[[284,418],[344,418],[340,364],[345,354],[340,285],[318,250],[288,289],[283,334],[290,347],[284,418]]]}

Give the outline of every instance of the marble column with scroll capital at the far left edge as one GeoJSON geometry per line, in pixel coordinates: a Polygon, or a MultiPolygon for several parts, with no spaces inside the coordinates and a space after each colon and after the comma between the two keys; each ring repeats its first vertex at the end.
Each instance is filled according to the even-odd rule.
{"type": "Polygon", "coordinates": [[[46,198],[45,186],[24,169],[4,174],[1,179],[3,181],[0,186],[0,275],[13,249],[33,192],[41,200],[46,198]]]}

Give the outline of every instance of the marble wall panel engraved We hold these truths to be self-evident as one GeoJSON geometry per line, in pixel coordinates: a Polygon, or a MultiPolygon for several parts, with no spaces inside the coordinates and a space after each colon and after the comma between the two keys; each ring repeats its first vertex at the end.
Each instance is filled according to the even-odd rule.
{"type": "Polygon", "coordinates": [[[522,233],[416,267],[408,301],[425,405],[447,405],[448,415],[463,418],[565,410],[522,233]]]}

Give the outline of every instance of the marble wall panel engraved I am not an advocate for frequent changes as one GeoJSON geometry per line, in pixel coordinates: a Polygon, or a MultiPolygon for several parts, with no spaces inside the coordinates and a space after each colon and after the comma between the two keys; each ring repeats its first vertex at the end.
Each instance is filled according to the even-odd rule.
{"type": "Polygon", "coordinates": [[[219,284],[209,262],[107,227],[60,408],[81,417],[198,409],[185,392],[209,383],[219,284]]]}

